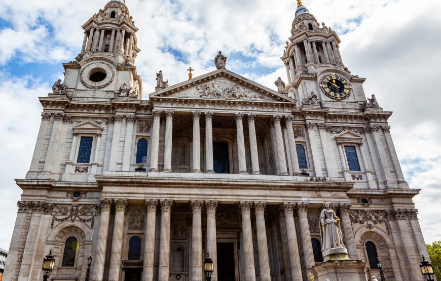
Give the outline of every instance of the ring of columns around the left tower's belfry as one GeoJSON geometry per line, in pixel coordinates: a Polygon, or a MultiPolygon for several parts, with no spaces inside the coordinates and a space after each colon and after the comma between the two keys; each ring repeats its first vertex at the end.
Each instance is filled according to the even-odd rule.
{"type": "Polygon", "coordinates": [[[129,31],[125,28],[91,27],[89,31],[84,31],[81,52],[85,50],[104,52],[106,45],[104,35],[107,31],[111,31],[108,52],[116,53],[122,51],[129,57],[133,57],[134,33],[132,32],[129,36],[126,36],[126,33],[129,31]]]}

